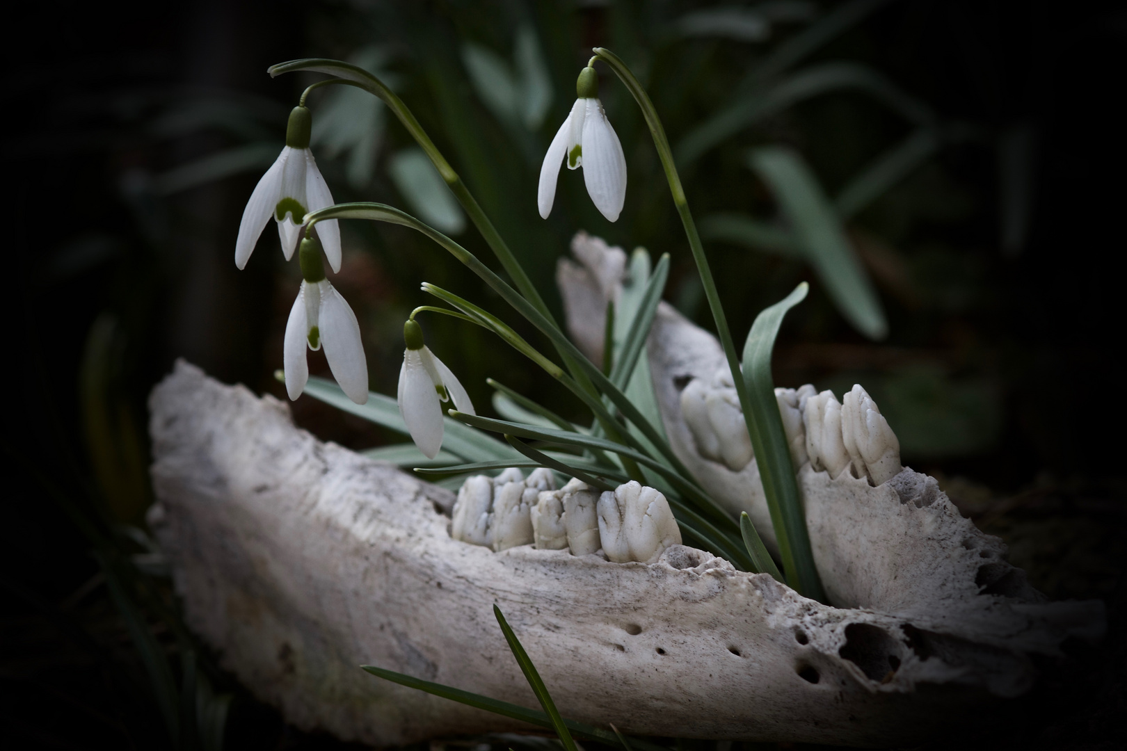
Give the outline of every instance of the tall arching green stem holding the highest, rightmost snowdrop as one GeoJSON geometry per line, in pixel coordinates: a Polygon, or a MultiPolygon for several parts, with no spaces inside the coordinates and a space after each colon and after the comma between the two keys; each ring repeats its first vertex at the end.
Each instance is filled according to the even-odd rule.
{"type": "MultiPolygon", "coordinates": [[[[728,368],[731,370],[731,381],[736,387],[736,395],[739,397],[739,405],[743,408],[744,420],[747,424],[747,432],[749,436],[756,436],[756,415],[754,413],[753,404],[748,399],[747,387],[744,383],[744,377],[739,368],[739,354],[736,349],[736,343],[731,338],[731,330],[728,328],[728,319],[724,313],[724,306],[720,304],[720,295],[716,288],[716,280],[712,277],[712,270],[709,267],[708,257],[704,254],[704,247],[701,244],[700,234],[696,232],[696,224],[693,222],[692,213],[689,211],[689,200],[685,198],[684,188],[681,185],[681,177],[677,175],[677,168],[673,160],[673,151],[669,149],[669,141],[665,136],[665,127],[662,125],[662,120],[657,115],[657,109],[654,107],[654,102],[650,101],[649,95],[646,93],[646,89],[642,88],[641,83],[630,71],[624,62],[619,59],[610,50],[604,47],[595,47],[594,53],[597,57],[606,62],[611,70],[618,74],[622,83],[629,89],[630,93],[633,95],[635,100],[642,110],[642,115],[646,118],[646,124],[649,126],[650,135],[654,137],[654,145],[657,149],[658,158],[662,161],[662,168],[665,170],[665,178],[669,184],[669,191],[673,194],[673,203],[677,208],[677,214],[681,216],[681,223],[684,225],[685,235],[689,239],[689,248],[692,250],[693,260],[696,262],[696,270],[700,274],[701,284],[704,287],[704,296],[708,298],[709,310],[712,312],[712,320],[716,322],[717,337],[720,339],[720,345],[724,347],[725,357],[728,360],[728,368]]],[[[780,553],[783,558],[783,567],[787,571],[787,579],[791,585],[799,585],[799,578],[797,572],[801,569],[806,569],[808,564],[810,570],[815,570],[813,554],[810,554],[810,542],[809,533],[806,529],[805,519],[801,516],[801,509],[797,509],[797,518],[802,519],[801,524],[797,525],[782,525],[779,520],[787,517],[795,518],[795,513],[786,513],[780,509],[780,499],[777,494],[771,492],[765,492],[767,500],[767,506],[771,510],[771,518],[775,521],[775,537],[779,540],[780,553]],[[804,561],[801,564],[795,558],[796,555],[804,555],[809,557],[809,561],[804,561]]],[[[802,588],[807,589],[807,588],[802,588]]],[[[808,596],[813,596],[814,592],[806,591],[802,592],[808,596]]]]}

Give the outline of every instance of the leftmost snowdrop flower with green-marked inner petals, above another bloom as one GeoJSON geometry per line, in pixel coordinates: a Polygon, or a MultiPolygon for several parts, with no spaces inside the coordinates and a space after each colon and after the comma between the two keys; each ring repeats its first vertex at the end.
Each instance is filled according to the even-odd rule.
{"type": "MultiPolygon", "coordinates": [[[[298,234],[305,214],[332,205],[329,186],[325,184],[309,150],[313,118],[309,108],[294,107],[290,113],[290,125],[285,129],[285,149],[258,181],[258,187],[250,194],[250,200],[242,212],[239,239],[234,243],[234,265],[240,269],[247,265],[255,243],[272,215],[278,224],[282,252],[290,260],[298,247],[298,234]]],[[[321,222],[317,230],[325,243],[329,266],[334,272],[340,271],[340,230],[337,221],[321,222]]]]}

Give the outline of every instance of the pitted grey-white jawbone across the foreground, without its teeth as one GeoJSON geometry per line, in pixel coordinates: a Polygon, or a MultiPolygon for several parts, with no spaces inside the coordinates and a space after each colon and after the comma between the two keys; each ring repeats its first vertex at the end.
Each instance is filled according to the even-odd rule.
{"type": "Polygon", "coordinates": [[[565,716],[855,745],[916,742],[985,694],[1019,694],[1028,652],[1101,625],[1099,604],[1038,601],[997,569],[1001,543],[909,470],[878,488],[799,473],[827,590],[861,608],[844,609],[683,545],[647,565],[455,540],[453,494],[322,444],[277,400],[184,363],[150,406],[150,524],[189,626],[287,719],[347,740],[516,727],[357,668],[535,707],[495,602],[565,716]]]}

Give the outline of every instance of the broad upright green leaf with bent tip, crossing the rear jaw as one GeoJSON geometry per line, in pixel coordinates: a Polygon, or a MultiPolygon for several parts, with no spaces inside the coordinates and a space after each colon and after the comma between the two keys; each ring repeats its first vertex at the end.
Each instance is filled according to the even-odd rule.
{"type": "Polygon", "coordinates": [[[790,462],[787,435],[775,401],[771,378],[771,352],[782,319],[791,307],[806,298],[809,287],[804,281],[782,301],[764,309],[757,316],[744,345],[743,375],[751,412],[747,428],[760,467],[763,492],[771,511],[771,521],[779,538],[779,552],[787,583],[806,597],[825,602],[822,581],[814,565],[810,536],[806,529],[795,467],[790,462]]]}

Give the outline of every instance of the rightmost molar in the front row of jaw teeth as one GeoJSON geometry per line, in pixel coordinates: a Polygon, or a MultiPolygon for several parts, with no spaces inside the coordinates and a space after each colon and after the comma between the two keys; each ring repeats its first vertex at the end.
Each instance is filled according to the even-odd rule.
{"type": "Polygon", "coordinates": [[[603,553],[615,563],[654,563],[665,548],[681,544],[681,529],[665,495],[631,480],[598,498],[603,553]]]}

